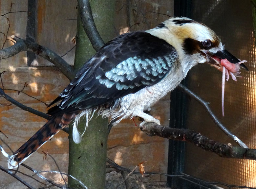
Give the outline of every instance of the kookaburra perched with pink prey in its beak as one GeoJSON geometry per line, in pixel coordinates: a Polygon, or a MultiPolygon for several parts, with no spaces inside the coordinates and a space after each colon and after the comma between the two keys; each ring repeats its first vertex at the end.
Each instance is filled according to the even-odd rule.
{"type": "Polygon", "coordinates": [[[216,66],[217,59],[240,62],[209,27],[189,18],[170,18],[153,29],[119,35],[88,60],[53,100],[50,105],[59,104],[49,109],[51,119],[9,157],[8,167],[17,167],[82,115],[97,112],[113,125],[134,116],[143,118],[143,123],[160,124],[144,111],[177,87],[190,68],[206,62],[216,66]]]}

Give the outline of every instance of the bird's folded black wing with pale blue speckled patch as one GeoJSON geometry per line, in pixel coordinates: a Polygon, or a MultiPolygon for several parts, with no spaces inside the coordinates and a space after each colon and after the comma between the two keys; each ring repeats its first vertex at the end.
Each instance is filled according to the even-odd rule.
{"type": "Polygon", "coordinates": [[[122,34],[88,60],[51,105],[62,100],[62,110],[87,109],[136,93],[163,79],[176,58],[172,45],[147,32],[122,34]]]}

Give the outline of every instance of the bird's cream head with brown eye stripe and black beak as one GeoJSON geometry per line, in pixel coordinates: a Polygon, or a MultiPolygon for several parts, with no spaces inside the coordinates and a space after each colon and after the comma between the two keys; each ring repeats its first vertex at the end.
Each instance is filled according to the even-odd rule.
{"type": "MultiPolygon", "coordinates": [[[[221,59],[227,59],[231,63],[240,62],[224,49],[213,30],[189,18],[170,18],[148,32],[174,46],[181,65],[189,69],[197,63],[206,62],[219,67],[221,64],[218,60],[221,59]]],[[[240,64],[240,67],[247,70],[244,64],[240,64]]]]}

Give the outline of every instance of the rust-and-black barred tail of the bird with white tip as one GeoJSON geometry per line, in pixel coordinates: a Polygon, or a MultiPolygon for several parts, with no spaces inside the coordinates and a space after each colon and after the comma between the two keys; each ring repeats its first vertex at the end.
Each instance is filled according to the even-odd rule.
{"type": "Polygon", "coordinates": [[[57,132],[66,127],[76,113],[64,113],[54,116],[41,129],[39,129],[25,144],[14,152],[8,159],[8,168],[13,169],[24,162],[34,151],[43,146],[57,132]]]}

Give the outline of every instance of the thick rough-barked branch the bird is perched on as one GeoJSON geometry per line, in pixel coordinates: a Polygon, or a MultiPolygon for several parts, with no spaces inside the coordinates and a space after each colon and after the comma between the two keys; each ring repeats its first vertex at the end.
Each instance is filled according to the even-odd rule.
{"type": "Polygon", "coordinates": [[[215,152],[220,157],[256,160],[256,149],[218,143],[193,130],[169,128],[152,122],[140,126],[140,129],[149,136],[160,136],[171,140],[191,142],[205,151],[215,152]]]}

